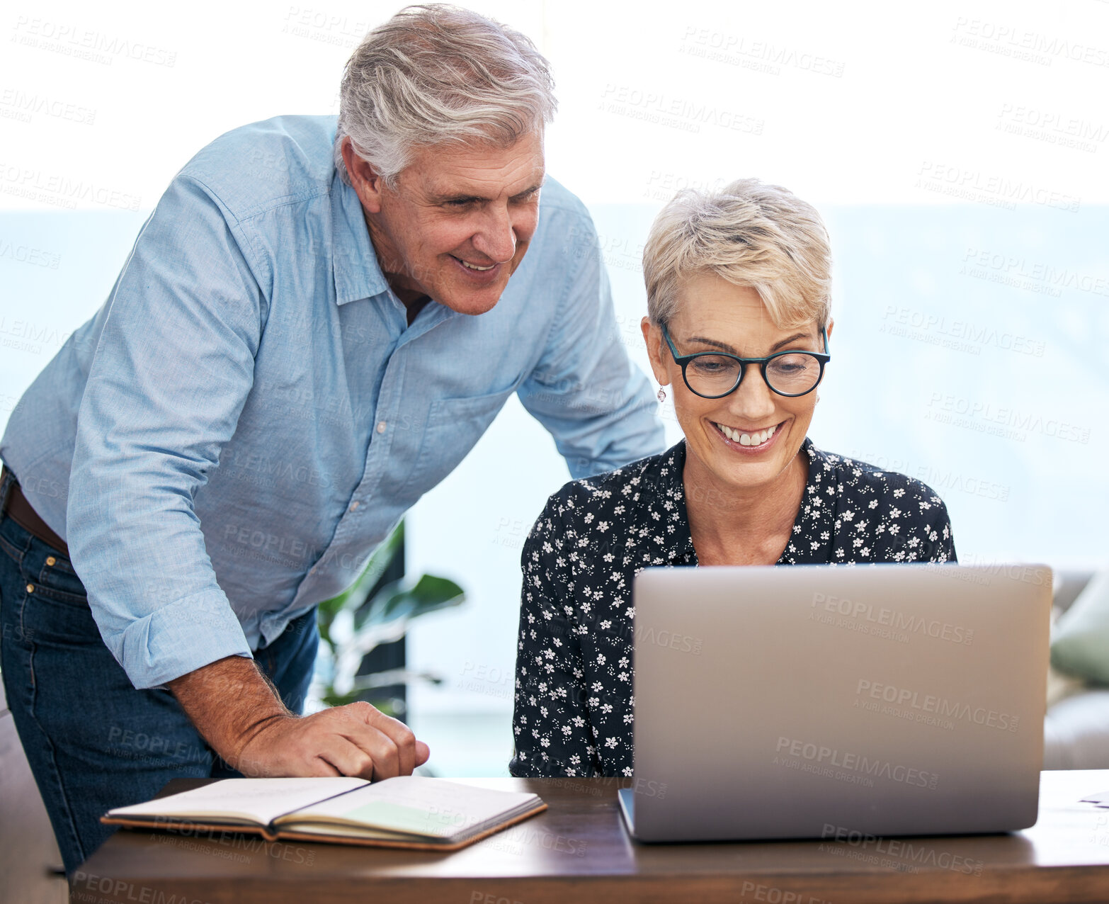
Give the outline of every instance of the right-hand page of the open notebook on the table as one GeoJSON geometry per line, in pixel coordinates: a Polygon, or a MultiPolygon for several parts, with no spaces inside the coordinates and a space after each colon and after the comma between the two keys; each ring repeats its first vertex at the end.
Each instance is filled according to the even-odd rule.
{"type": "Polygon", "coordinates": [[[353,822],[418,835],[447,837],[474,825],[496,822],[529,802],[535,794],[491,791],[423,775],[374,782],[329,801],[305,806],[282,820],[353,822]]]}

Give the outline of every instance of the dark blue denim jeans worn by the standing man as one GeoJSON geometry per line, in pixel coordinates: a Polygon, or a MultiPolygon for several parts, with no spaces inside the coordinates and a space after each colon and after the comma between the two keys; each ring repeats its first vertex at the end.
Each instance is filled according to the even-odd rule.
{"type": "MultiPolygon", "coordinates": [[[[101,640],[69,560],[7,516],[0,516],[0,627],[8,707],[67,873],[112,834],[100,817],[113,806],[149,800],[170,779],[238,774],[170,691],[134,689],[101,640]]],[[[318,646],[313,609],[255,653],[294,712],[303,709],[318,646]]]]}

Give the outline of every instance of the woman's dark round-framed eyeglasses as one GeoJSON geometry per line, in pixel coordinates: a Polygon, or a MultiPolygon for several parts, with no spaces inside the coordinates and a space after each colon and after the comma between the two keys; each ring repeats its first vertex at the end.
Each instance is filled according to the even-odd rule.
{"type": "Polygon", "coordinates": [[[723,398],[740,387],[743,379],[744,365],[757,364],[763,379],[771,392],[780,396],[807,395],[820,386],[824,377],[824,365],[832,360],[828,354],[827,329],[821,327],[824,338],[824,352],[785,351],[775,352],[765,358],[741,358],[724,352],[696,352],[692,355],[679,355],[673,339],[662,324],[662,336],[670,346],[674,363],[682,368],[682,379],[690,392],[701,398],[723,398]]]}

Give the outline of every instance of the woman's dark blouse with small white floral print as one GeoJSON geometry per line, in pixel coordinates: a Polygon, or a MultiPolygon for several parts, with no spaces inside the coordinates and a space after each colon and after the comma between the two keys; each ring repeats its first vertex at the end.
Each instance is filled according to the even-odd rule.
{"type": "MultiPolygon", "coordinates": [[[[947,508],[930,487],[822,451],[777,565],[955,562],[947,508]]],[[[648,566],[695,566],[682,474],[685,441],[573,480],[547,502],[520,563],[523,586],[509,771],[631,775],[632,582],[648,566]]]]}

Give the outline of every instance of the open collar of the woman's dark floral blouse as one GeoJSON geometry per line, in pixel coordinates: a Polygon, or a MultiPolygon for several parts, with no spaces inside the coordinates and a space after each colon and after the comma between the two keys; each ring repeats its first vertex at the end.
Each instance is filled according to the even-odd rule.
{"type": "MultiPolygon", "coordinates": [[[[796,544],[798,538],[806,538],[811,534],[818,546],[813,548],[812,542],[806,542],[804,549],[798,548],[798,553],[806,562],[827,562],[831,561],[830,526],[837,489],[836,481],[830,479],[834,475],[834,467],[807,436],[801,444],[801,451],[808,457],[808,476],[790,542],[796,544]]],[[[689,512],[685,508],[684,470],[685,440],[681,439],[662,455],[651,459],[651,465],[643,474],[647,481],[658,488],[655,499],[651,502],[655,508],[663,507],[660,515],[674,528],[672,531],[667,529],[662,535],[663,546],[660,555],[667,559],[668,565],[696,563],[696,550],[693,548],[689,512]],[[670,510],[664,508],[668,499],[674,504],[670,510]]]]}

